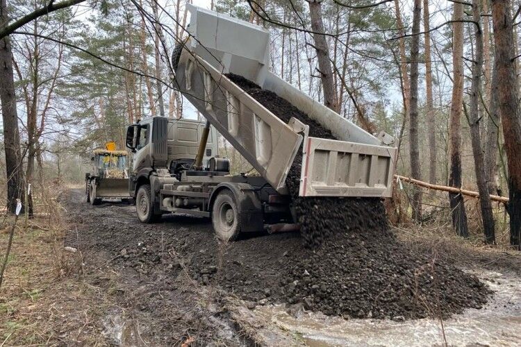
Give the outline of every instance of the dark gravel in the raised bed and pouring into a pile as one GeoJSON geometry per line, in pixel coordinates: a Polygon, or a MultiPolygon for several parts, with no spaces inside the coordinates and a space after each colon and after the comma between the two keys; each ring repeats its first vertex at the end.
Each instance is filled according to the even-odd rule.
{"type": "MultiPolygon", "coordinates": [[[[286,123],[295,117],[309,135],[329,130],[273,92],[242,76],[226,75],[286,123]]],[[[449,316],[481,307],[490,294],[474,276],[400,244],[378,198],[300,198],[301,151],[286,185],[304,246],[284,262],[278,285],[289,303],[352,317],[395,319],[449,316]]]]}

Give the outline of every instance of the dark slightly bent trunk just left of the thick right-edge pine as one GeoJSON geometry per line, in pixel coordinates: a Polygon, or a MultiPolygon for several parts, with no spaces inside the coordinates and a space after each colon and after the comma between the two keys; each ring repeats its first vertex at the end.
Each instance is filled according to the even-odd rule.
{"type": "Polygon", "coordinates": [[[486,184],[485,167],[483,164],[483,152],[481,151],[481,135],[479,132],[479,91],[481,90],[481,73],[483,69],[483,33],[481,32],[481,12],[479,0],[472,0],[472,19],[474,24],[474,39],[476,51],[472,62],[472,87],[470,90],[470,139],[472,141],[472,154],[474,154],[474,168],[479,191],[479,204],[481,205],[481,219],[483,220],[483,232],[485,242],[495,244],[494,217],[492,203],[486,184]]]}

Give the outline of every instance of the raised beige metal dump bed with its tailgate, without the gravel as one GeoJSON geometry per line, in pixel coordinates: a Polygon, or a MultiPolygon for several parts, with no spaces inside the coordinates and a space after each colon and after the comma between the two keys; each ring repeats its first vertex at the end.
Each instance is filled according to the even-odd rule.
{"type": "Polygon", "coordinates": [[[268,71],[270,36],[264,28],[188,9],[190,37],[173,59],[176,87],[267,182],[286,193],[286,176],[302,151],[300,196],[390,196],[397,155],[392,137],[374,137],[268,71]],[[286,99],[336,140],[309,137],[308,125],[295,118],[284,123],[228,73],[286,99]]]}

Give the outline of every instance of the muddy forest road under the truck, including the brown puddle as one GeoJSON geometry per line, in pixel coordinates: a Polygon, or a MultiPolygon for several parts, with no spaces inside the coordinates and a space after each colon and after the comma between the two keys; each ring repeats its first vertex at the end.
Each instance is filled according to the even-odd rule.
{"type": "MultiPolygon", "coordinates": [[[[307,312],[306,303],[292,302],[296,296],[288,297],[287,292],[295,282],[281,278],[281,269],[293,269],[290,263],[295,255],[306,256],[307,262],[326,256],[320,251],[302,253],[297,232],[252,235],[222,245],[207,219],[169,215],[160,223],[145,225],[138,222],[132,205],[91,206],[80,190],[70,192],[66,199],[69,232],[65,246],[78,248],[83,276],[110,294],[113,305],[98,324],[112,344],[443,344],[436,317],[403,321],[397,309],[396,316],[383,320],[342,318],[334,312],[332,316],[307,312]],[[387,335],[392,339],[387,340],[387,335]]],[[[518,275],[475,275],[481,279],[479,286],[486,283],[483,288],[500,295],[489,298],[484,309],[465,310],[445,321],[452,329],[446,338],[456,345],[481,341],[508,345],[513,331],[521,326],[518,275]],[[505,278],[499,282],[508,285],[499,287],[494,280],[498,276],[505,278]],[[509,325],[479,323],[488,318],[509,325]],[[478,323],[470,325],[470,321],[478,323]],[[454,332],[462,332],[465,339],[456,339],[454,332]]],[[[469,291],[467,296],[474,295],[469,291]]]]}

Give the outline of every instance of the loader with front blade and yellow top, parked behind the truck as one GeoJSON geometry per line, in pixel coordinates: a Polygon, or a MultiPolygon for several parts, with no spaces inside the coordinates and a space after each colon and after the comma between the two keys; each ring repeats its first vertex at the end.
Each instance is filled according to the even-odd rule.
{"type": "Polygon", "coordinates": [[[85,174],[87,202],[98,205],[103,199],[133,201],[129,194],[127,151],[117,151],[115,142],[107,142],[105,149],[95,149],[92,157],[92,174],[85,174]]]}

